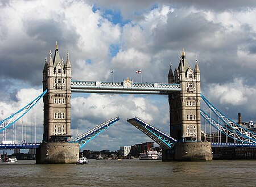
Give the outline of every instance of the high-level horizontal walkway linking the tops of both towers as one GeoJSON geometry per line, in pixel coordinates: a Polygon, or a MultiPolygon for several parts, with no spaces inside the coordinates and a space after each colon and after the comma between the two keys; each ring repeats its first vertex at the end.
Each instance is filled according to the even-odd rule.
{"type": "Polygon", "coordinates": [[[123,82],[90,82],[71,81],[72,92],[107,93],[107,94],[171,94],[181,91],[180,84],[169,83],[133,83],[131,80],[123,82]]]}

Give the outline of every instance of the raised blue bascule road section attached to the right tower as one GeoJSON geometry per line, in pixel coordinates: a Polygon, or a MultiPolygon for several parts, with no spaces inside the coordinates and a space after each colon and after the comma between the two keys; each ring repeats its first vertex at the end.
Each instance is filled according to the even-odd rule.
{"type": "Polygon", "coordinates": [[[144,122],[138,117],[130,118],[127,120],[127,122],[135,126],[135,128],[141,130],[144,134],[146,134],[163,148],[171,149],[174,146],[174,143],[177,142],[177,140],[170,137],[170,135],[159,129],[156,129],[150,124],[147,124],[147,122],[144,122]]]}

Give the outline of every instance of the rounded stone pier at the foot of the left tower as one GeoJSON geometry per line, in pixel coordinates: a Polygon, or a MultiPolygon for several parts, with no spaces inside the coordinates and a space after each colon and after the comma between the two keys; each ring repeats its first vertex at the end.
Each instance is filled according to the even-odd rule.
{"type": "Polygon", "coordinates": [[[79,159],[79,143],[49,142],[36,149],[36,164],[76,163],[79,159]]]}

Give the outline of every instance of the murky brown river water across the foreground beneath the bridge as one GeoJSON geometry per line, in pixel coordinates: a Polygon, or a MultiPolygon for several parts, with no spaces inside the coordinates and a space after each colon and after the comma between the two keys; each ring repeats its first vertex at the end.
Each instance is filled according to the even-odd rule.
{"type": "Polygon", "coordinates": [[[0,186],[256,186],[256,160],[89,160],[87,165],[0,163],[0,186]]]}

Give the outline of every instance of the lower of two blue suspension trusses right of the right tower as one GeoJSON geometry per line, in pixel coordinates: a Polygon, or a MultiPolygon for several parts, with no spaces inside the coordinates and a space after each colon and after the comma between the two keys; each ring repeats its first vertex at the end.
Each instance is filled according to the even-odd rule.
{"type": "Polygon", "coordinates": [[[200,111],[201,116],[215,129],[220,131],[222,134],[227,135],[230,138],[235,139],[236,141],[240,141],[242,143],[256,143],[256,139],[250,138],[245,134],[240,133],[239,131],[236,131],[235,129],[232,129],[232,126],[229,126],[228,124],[220,124],[218,121],[214,120],[212,117],[209,116],[209,114],[205,113],[203,109],[200,111]]]}

